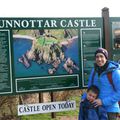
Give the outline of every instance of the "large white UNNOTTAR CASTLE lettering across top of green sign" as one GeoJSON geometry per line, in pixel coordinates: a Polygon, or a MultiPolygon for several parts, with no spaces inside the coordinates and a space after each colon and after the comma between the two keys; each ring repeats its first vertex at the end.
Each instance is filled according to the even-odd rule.
{"type": "Polygon", "coordinates": [[[56,27],[96,27],[96,20],[95,19],[62,19],[60,21],[55,19],[20,19],[20,20],[0,20],[0,28],[56,28],[56,27]],[[59,26],[57,26],[57,23],[59,23],[59,26]]]}

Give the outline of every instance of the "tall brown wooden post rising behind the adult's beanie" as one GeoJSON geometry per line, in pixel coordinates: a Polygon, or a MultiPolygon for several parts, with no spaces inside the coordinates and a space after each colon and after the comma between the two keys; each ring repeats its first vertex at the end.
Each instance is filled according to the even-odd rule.
{"type": "Polygon", "coordinates": [[[105,37],[105,48],[108,50],[109,58],[111,58],[110,54],[110,22],[109,22],[109,8],[102,9],[102,17],[103,17],[103,32],[105,37]]]}

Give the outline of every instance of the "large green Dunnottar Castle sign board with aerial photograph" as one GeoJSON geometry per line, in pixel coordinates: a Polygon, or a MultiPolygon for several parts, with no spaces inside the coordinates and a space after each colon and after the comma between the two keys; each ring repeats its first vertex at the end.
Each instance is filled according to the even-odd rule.
{"type": "Polygon", "coordinates": [[[101,18],[0,18],[0,94],[84,87],[101,41],[101,18]]]}

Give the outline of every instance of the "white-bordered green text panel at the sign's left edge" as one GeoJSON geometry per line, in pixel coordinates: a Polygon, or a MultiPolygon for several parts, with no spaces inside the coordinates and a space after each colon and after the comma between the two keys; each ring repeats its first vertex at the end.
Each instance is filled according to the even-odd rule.
{"type": "Polygon", "coordinates": [[[0,92],[12,93],[10,31],[0,30],[0,92]]]}

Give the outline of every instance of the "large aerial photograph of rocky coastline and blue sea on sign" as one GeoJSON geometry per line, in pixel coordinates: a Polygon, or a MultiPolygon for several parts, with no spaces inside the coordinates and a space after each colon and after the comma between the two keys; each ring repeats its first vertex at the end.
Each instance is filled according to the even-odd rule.
{"type": "Polygon", "coordinates": [[[13,31],[15,77],[79,73],[78,30],[13,31]]]}

